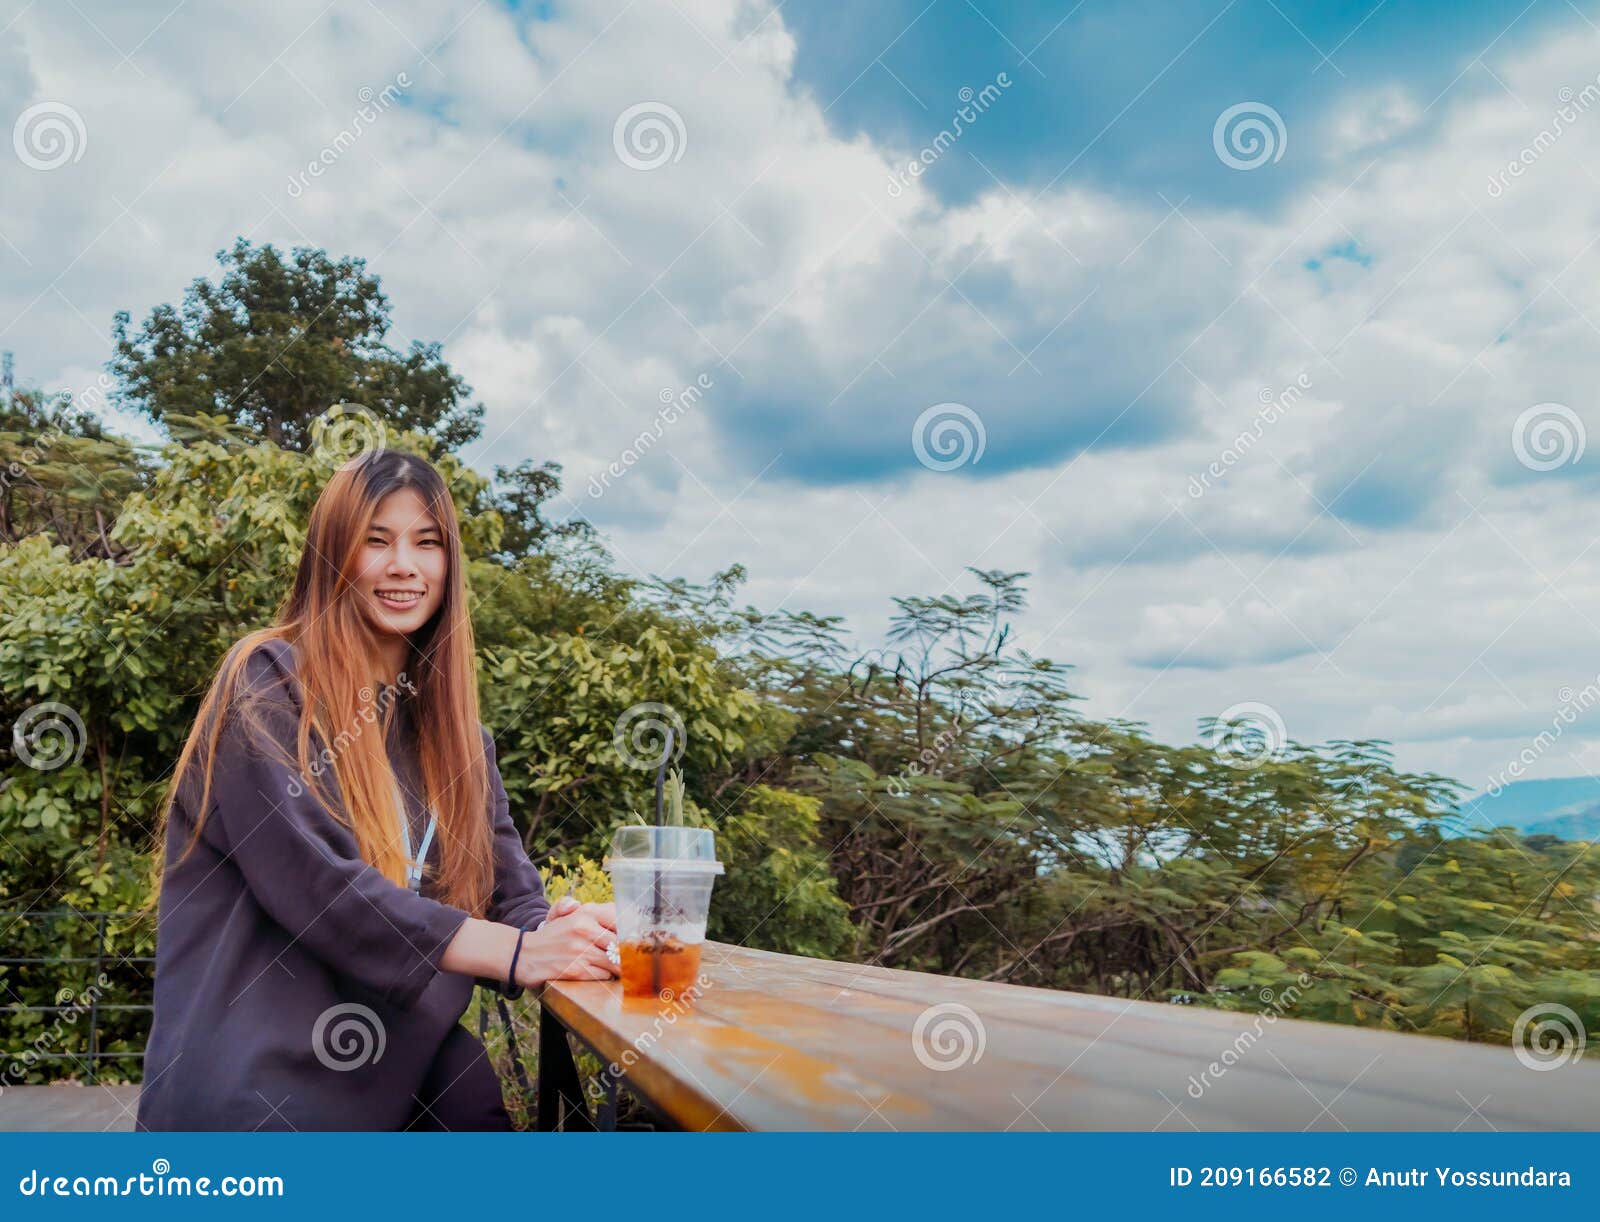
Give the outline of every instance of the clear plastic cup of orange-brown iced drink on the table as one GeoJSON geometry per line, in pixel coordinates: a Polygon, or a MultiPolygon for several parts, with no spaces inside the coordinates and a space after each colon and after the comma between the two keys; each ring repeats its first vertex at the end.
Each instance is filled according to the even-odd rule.
{"type": "Polygon", "coordinates": [[[619,827],[605,859],[616,899],[622,996],[682,998],[699,977],[710,888],[722,873],[709,827],[619,827]]]}

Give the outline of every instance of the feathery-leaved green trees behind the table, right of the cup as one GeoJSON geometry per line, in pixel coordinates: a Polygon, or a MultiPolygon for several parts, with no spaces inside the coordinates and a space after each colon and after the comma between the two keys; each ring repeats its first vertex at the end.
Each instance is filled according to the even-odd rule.
{"type": "Polygon", "coordinates": [[[890,648],[723,609],[789,710],[749,776],[818,798],[867,963],[1507,1041],[1528,1006],[1600,1022],[1600,861],[1453,835],[1459,787],[1387,744],[1168,745],[1077,709],[1010,646],[1026,574],[896,598],[890,648]]]}

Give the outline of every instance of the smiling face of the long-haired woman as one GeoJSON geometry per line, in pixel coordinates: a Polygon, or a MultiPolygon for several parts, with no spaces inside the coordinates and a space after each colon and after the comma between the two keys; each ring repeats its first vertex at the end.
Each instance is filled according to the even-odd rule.
{"type": "Polygon", "coordinates": [[[378,502],[357,560],[355,590],[381,635],[410,637],[445,598],[445,533],[414,488],[378,502]]]}

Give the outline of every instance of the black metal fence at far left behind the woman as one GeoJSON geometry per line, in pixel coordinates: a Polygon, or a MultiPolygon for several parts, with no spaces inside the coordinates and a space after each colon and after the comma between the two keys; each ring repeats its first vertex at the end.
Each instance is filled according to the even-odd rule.
{"type": "MultiPolygon", "coordinates": [[[[154,1012],[154,993],[149,990],[154,987],[149,979],[136,980],[133,988],[138,990],[139,996],[150,996],[152,1001],[130,1003],[130,1001],[106,1001],[102,996],[101,982],[109,976],[107,969],[125,969],[136,968],[144,969],[147,964],[154,964],[154,955],[123,955],[117,953],[109,945],[109,937],[112,932],[112,923],[118,920],[146,921],[150,923],[152,916],[142,912],[82,912],[78,909],[27,909],[27,910],[11,910],[0,912],[0,929],[6,931],[0,937],[0,985],[5,988],[6,1004],[0,1006],[8,1017],[8,1036],[6,1046],[0,1048],[0,1073],[11,1073],[16,1065],[32,1065],[37,1060],[70,1060],[78,1062],[83,1070],[85,1078],[93,1083],[99,1075],[101,1062],[106,1060],[142,1060],[144,1046],[136,1049],[115,1049],[106,1051],[102,1048],[102,1035],[106,1032],[106,1024],[110,1016],[122,1016],[128,1012],[154,1012]],[[74,926],[67,936],[50,937],[48,942],[54,947],[61,947],[72,940],[80,940],[82,934],[90,936],[88,953],[37,953],[37,955],[16,955],[11,953],[18,944],[22,940],[18,936],[18,926],[22,921],[78,921],[86,924],[88,929],[74,926]],[[77,934],[80,937],[72,937],[77,934]],[[88,968],[90,985],[74,996],[74,1001],[62,1004],[62,992],[69,988],[77,979],[82,977],[82,969],[88,968]],[[45,971],[38,971],[45,969],[45,971]],[[37,976],[45,976],[53,979],[34,979],[37,976]],[[24,995],[32,996],[50,996],[54,1004],[32,1004],[24,998],[24,995]],[[86,996],[86,1001],[78,998],[86,996]],[[34,1040],[27,1048],[13,1048],[18,1024],[10,1019],[18,1014],[46,1014],[61,1019],[62,1016],[74,1016],[72,1027],[77,1027],[80,1017],[88,1019],[88,1046],[78,1051],[43,1051],[38,1048],[45,1040],[34,1040]]],[[[120,931],[118,931],[120,932],[120,931]]],[[[149,974],[149,972],[147,972],[149,974]]],[[[125,990],[128,987],[126,977],[130,972],[122,971],[125,977],[117,987],[125,990]]],[[[30,1024],[24,1024],[30,1025],[30,1024]]],[[[126,1028],[126,1024],[118,1022],[118,1028],[126,1028]]],[[[48,1035],[50,1032],[46,1032],[48,1035]]],[[[59,1030],[56,1032],[59,1036],[59,1030]]],[[[144,1024],[144,1036],[149,1038],[149,1024],[144,1024]]],[[[74,1040],[77,1043],[77,1040],[74,1040]]],[[[118,1035],[117,1043],[126,1043],[125,1035],[118,1035]]],[[[46,1048],[53,1048],[53,1043],[46,1043],[46,1048]]]]}

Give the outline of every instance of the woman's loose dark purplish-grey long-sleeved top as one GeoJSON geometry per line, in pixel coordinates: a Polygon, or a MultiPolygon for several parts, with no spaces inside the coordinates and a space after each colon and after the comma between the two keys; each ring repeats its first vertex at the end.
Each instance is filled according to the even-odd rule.
{"type": "MultiPolygon", "coordinates": [[[[293,766],[301,707],[293,648],[258,646],[245,673],[288,761],[224,721],[211,813],[194,853],[174,865],[192,837],[198,769],[179,787],[138,1128],[405,1128],[446,1038],[466,1035],[459,1019],[474,977],[442,971],[438,960],[467,913],[432,897],[437,835],[421,894],[397,886],[362,859],[354,833],[293,766]]],[[[414,853],[426,825],[416,733],[408,697],[387,688],[384,702],[390,694],[386,745],[414,853]]],[[[312,750],[318,745],[314,737],[312,750]]],[[[483,749],[485,817],[494,829],[488,920],[536,928],[549,901],[510,821],[486,729],[483,749]]],[[[333,769],[320,779],[338,801],[333,769]]]]}

